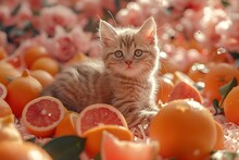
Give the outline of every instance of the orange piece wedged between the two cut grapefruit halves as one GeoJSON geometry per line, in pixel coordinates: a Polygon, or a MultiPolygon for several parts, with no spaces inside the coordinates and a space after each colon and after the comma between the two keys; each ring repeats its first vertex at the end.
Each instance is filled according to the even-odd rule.
{"type": "Polygon", "coordinates": [[[78,115],[78,113],[70,111],[56,126],[54,136],[77,135],[75,123],[78,115]]]}

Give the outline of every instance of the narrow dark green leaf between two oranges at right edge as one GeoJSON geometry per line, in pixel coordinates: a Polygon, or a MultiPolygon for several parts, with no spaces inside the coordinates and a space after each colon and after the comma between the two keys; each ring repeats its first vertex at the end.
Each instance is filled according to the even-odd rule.
{"type": "Polygon", "coordinates": [[[223,102],[225,100],[225,98],[227,97],[227,95],[230,93],[230,90],[237,86],[237,78],[234,77],[229,83],[227,83],[226,85],[222,86],[219,88],[219,94],[223,97],[223,100],[221,102],[221,106],[223,106],[223,102]]]}

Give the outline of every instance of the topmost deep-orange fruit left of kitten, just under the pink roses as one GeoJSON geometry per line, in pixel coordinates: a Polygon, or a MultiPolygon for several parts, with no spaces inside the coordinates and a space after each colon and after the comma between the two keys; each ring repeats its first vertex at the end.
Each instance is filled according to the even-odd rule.
{"type": "Polygon", "coordinates": [[[25,50],[24,61],[29,69],[37,59],[43,57],[49,57],[47,49],[42,46],[33,46],[25,50]]]}

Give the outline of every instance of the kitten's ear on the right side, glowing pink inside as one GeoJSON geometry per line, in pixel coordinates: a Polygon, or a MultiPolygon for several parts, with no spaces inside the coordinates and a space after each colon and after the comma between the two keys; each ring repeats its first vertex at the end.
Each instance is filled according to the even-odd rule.
{"type": "Polygon", "coordinates": [[[149,44],[156,42],[156,24],[153,17],[149,17],[139,28],[138,34],[142,36],[149,44]]]}

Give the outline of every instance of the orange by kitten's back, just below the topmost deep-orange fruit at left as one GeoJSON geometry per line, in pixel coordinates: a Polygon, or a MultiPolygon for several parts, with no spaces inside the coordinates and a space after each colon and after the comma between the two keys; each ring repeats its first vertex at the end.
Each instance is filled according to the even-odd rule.
{"type": "Polygon", "coordinates": [[[40,58],[37,59],[33,65],[30,65],[30,70],[45,70],[50,73],[52,76],[55,76],[60,71],[59,62],[52,58],[40,58]]]}

